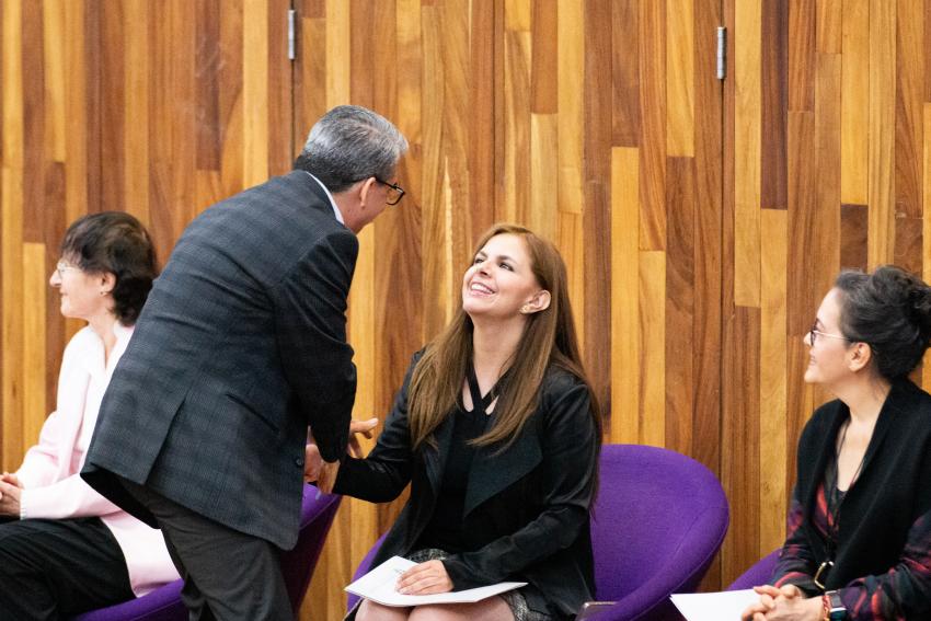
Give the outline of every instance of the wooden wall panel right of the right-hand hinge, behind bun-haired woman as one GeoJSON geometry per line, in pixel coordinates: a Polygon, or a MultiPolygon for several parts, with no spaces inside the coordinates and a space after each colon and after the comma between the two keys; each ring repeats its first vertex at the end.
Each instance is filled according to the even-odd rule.
{"type": "MultiPolygon", "coordinates": [[[[738,58],[735,83],[725,89],[724,202],[725,207],[734,204],[735,211],[725,210],[722,227],[722,446],[727,449],[721,463],[732,504],[723,584],[783,536],[798,435],[813,409],[832,398],[804,384],[807,347],[802,340],[837,272],[895,262],[928,275],[923,204],[930,92],[928,11],[921,0],[773,0],[762,3],[759,25],[744,16],[749,3],[726,4],[726,23],[738,31],[738,58]],[[785,10],[788,23],[781,23],[785,10]],[[752,25],[750,32],[747,25],[752,25]],[[742,37],[749,42],[742,44],[742,37]],[[768,60],[765,53],[759,67],[740,69],[740,49],[759,44],[773,48],[774,41],[783,39],[788,67],[768,60]],[[772,85],[785,79],[788,97],[779,101],[772,85]],[[731,89],[736,93],[733,112],[731,89]],[[758,89],[765,118],[761,177],[743,163],[742,147],[756,139],[756,130],[749,137],[742,133],[750,110],[746,102],[758,89]],[[773,118],[775,125],[767,120],[773,118]],[[777,137],[783,119],[788,175],[778,180],[767,162],[780,165],[777,137]],[[738,138],[734,148],[726,138],[732,131],[738,138]],[[734,171],[733,181],[727,171],[734,171]],[[746,200],[756,197],[758,184],[762,200],[746,200]],[[778,192],[786,198],[784,217],[768,209],[778,206],[768,199],[778,192]],[[759,256],[746,252],[740,232],[757,217],[747,209],[761,218],[759,256]],[[762,275],[758,303],[742,295],[739,278],[728,281],[732,272],[739,276],[742,269],[762,275]],[[749,400],[747,391],[757,389],[759,401],[749,400]]],[[[927,365],[923,372],[927,379],[927,365]]]]}

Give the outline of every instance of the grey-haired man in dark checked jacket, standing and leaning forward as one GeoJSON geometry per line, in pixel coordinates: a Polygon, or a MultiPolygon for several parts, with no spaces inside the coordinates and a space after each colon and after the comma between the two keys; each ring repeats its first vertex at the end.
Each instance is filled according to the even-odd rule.
{"type": "Polygon", "coordinates": [[[187,227],[149,295],[81,475],[161,527],[191,619],[294,617],[278,550],[298,536],[308,427],[325,461],[346,450],[356,233],[401,199],[406,148],[371,111],[333,108],[292,172],[187,227]]]}

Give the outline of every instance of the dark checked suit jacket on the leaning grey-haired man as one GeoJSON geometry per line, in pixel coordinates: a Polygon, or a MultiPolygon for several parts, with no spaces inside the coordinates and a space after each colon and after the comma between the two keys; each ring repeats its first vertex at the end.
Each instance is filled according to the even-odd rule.
{"type": "Polygon", "coordinates": [[[204,211],[156,280],[82,476],[153,524],[118,474],[280,548],[297,540],[307,427],[345,451],[346,296],[358,242],[294,171],[204,211]]]}

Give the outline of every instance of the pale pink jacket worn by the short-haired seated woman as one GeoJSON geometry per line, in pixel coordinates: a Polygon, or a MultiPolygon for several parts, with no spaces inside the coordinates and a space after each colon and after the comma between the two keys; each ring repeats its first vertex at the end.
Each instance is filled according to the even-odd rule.
{"type": "Polygon", "coordinates": [[[100,399],[110,376],[133,335],[131,327],[119,323],[114,331],[117,341],[106,365],[103,342],[90,327],[79,331],[65,348],[56,411],[45,421],[38,444],[26,451],[16,471],[24,487],[20,517],[100,516],[119,543],[129,571],[129,584],[140,596],[179,578],[161,531],[97,494],[79,475],[84,461],[83,451],[78,448],[81,430],[89,425],[84,434],[87,439],[96,423],[100,399]]]}

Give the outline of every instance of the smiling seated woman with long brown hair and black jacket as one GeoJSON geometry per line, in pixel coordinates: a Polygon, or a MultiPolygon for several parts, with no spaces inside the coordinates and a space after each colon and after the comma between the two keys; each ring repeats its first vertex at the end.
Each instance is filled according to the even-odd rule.
{"type": "Polygon", "coordinates": [[[411,483],[372,564],[417,562],[401,576],[401,593],[528,585],[478,603],[364,600],[359,621],[564,619],[594,596],[600,424],[565,266],[521,227],[497,225],[478,249],[461,309],[414,356],[377,446],[366,459],[342,460],[334,491],[388,502],[411,483]]]}

